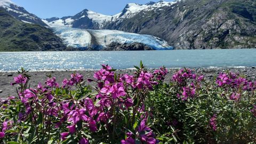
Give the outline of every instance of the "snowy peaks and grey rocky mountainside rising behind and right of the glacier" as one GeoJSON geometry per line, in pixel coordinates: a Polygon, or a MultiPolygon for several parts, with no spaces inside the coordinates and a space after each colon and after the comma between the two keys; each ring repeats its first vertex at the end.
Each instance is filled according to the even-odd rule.
{"type": "Polygon", "coordinates": [[[166,40],[175,49],[256,48],[254,0],[179,0],[127,4],[121,13],[84,10],[73,17],[47,21],[85,29],[115,29],[166,40]]]}

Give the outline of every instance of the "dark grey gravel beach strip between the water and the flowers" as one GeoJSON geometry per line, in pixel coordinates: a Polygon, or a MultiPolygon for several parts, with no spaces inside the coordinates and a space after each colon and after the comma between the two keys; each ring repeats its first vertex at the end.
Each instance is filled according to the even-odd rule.
{"type": "MultiPolygon", "coordinates": [[[[169,68],[169,73],[165,77],[165,82],[170,81],[173,73],[179,69],[169,68]]],[[[255,68],[194,68],[193,69],[196,74],[203,74],[207,79],[212,79],[215,75],[218,75],[221,72],[225,72],[226,70],[233,71],[234,73],[239,73],[241,75],[245,75],[250,80],[256,80],[256,69],[255,68]]],[[[149,69],[149,71],[154,71],[154,69],[149,69]]],[[[81,73],[84,76],[84,79],[93,78],[93,74],[95,70],[83,70],[76,71],[77,73],[81,73]]],[[[74,73],[74,71],[29,71],[30,78],[30,86],[35,87],[39,82],[44,83],[46,81],[46,75],[51,74],[52,77],[56,77],[57,82],[61,84],[63,78],[70,77],[70,74],[74,73]]],[[[133,69],[119,69],[117,73],[127,73],[133,74],[133,69]]],[[[17,76],[17,73],[14,72],[2,72],[0,73],[0,98],[7,97],[8,95],[17,95],[16,86],[10,85],[13,82],[13,77],[17,76]]],[[[93,84],[93,83],[92,83],[93,84]]]]}

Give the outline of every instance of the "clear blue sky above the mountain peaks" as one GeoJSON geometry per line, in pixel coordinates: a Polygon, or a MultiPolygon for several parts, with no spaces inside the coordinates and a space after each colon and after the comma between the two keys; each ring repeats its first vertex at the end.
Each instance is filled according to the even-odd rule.
{"type": "MultiPolygon", "coordinates": [[[[1,0],[0,0],[1,1],[1,0]]],[[[146,4],[160,0],[12,0],[39,18],[66,17],[84,9],[114,15],[121,12],[127,3],[146,4]]],[[[165,0],[171,2],[173,0],[165,0]]]]}

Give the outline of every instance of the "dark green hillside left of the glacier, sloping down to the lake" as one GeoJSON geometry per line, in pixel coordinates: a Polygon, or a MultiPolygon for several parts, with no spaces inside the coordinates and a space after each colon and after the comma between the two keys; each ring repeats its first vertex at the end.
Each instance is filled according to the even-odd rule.
{"type": "Polygon", "coordinates": [[[43,26],[25,23],[0,10],[0,51],[61,51],[62,40],[43,26]]]}

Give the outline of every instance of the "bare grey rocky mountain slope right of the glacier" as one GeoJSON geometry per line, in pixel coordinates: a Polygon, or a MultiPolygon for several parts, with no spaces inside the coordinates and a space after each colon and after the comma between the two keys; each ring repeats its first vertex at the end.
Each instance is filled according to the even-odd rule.
{"type": "Polygon", "coordinates": [[[176,49],[255,48],[255,7],[252,0],[187,0],[161,13],[139,13],[114,28],[161,37],[176,49]]]}

